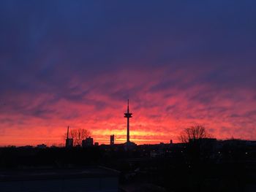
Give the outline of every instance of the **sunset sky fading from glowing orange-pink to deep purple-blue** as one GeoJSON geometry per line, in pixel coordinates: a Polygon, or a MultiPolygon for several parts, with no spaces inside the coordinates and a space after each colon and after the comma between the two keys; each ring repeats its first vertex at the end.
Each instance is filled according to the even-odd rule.
{"type": "Polygon", "coordinates": [[[0,1],[0,146],[256,139],[256,1],[0,1]]]}

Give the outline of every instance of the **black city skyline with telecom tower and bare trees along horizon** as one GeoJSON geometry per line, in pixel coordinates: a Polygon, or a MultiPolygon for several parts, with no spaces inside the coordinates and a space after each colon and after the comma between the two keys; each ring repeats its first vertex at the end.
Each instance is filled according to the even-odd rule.
{"type": "MultiPolygon", "coordinates": [[[[127,127],[126,127],[126,142],[123,142],[122,139],[115,139],[115,135],[111,134],[110,135],[110,140],[108,140],[109,145],[120,145],[120,144],[124,144],[128,146],[135,146],[136,143],[132,142],[130,140],[130,123],[129,123],[129,118],[132,118],[132,113],[129,111],[129,99],[127,99],[127,111],[124,112],[124,118],[127,118],[127,127]]],[[[64,134],[64,142],[61,142],[60,144],[52,144],[52,145],[45,145],[45,142],[43,142],[42,144],[37,143],[36,145],[34,145],[34,147],[67,147],[67,148],[71,148],[71,147],[84,147],[83,142],[87,143],[90,142],[89,146],[93,146],[93,145],[108,145],[108,142],[102,142],[99,143],[98,142],[98,138],[93,138],[91,135],[91,132],[86,129],[86,128],[72,128],[70,130],[70,126],[67,126],[67,133],[64,134]],[[71,133],[70,133],[71,132],[71,133]],[[94,139],[94,141],[93,141],[94,139]],[[91,141],[90,141],[91,140],[91,141]],[[97,142],[95,142],[95,140],[97,142]]],[[[139,138],[139,137],[138,137],[139,138]]],[[[140,138],[139,138],[140,139],[140,138]]],[[[219,139],[216,138],[214,135],[210,134],[209,132],[209,128],[206,128],[203,125],[200,125],[198,123],[192,124],[190,126],[184,127],[183,130],[180,131],[179,135],[178,135],[178,143],[188,143],[190,142],[190,140],[193,139],[219,139]]],[[[136,140],[136,139],[135,139],[136,140]]],[[[222,142],[222,140],[239,140],[239,141],[246,141],[246,139],[241,139],[241,138],[234,138],[233,136],[230,136],[229,138],[226,139],[219,139],[220,142],[222,142]]],[[[106,140],[107,141],[107,140],[106,140]]],[[[251,142],[250,140],[247,140],[248,142],[251,142]]],[[[252,141],[254,142],[254,141],[252,141]]],[[[151,143],[150,141],[148,143],[143,143],[143,144],[147,144],[147,145],[156,145],[156,144],[161,144],[161,145],[172,145],[173,144],[173,139],[169,139],[168,142],[164,142],[162,140],[160,140],[158,143],[151,143]]],[[[138,143],[141,145],[141,143],[138,143]]],[[[33,147],[33,145],[18,145],[17,147],[33,147]]],[[[12,143],[10,143],[10,145],[5,145],[5,146],[1,146],[1,147],[16,147],[15,145],[12,145],[12,143]]]]}

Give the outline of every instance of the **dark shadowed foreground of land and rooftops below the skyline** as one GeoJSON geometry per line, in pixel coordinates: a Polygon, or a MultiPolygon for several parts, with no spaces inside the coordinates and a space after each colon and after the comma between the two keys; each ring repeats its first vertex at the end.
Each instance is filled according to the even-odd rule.
{"type": "Polygon", "coordinates": [[[256,191],[256,145],[207,139],[128,149],[4,147],[0,169],[0,191],[11,191],[12,183],[20,191],[35,185],[32,191],[38,192],[256,191]]]}

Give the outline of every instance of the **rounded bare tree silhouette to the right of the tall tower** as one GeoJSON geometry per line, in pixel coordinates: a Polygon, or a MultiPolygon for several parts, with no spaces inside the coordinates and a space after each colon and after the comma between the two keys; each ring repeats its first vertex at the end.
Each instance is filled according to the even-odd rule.
{"type": "Polygon", "coordinates": [[[209,137],[210,134],[207,133],[206,128],[204,126],[197,125],[185,128],[184,131],[181,131],[178,139],[181,142],[189,142],[189,139],[203,139],[209,137]]]}

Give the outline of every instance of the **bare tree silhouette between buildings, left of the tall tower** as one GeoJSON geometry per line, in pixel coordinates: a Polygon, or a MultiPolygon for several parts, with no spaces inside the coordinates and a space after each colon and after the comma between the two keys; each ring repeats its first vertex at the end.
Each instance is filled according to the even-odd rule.
{"type": "MultiPolygon", "coordinates": [[[[74,145],[81,145],[82,140],[91,136],[91,132],[85,128],[72,128],[69,131],[69,138],[72,138],[74,145]]],[[[64,139],[67,138],[67,134],[64,134],[64,139]]]]}

